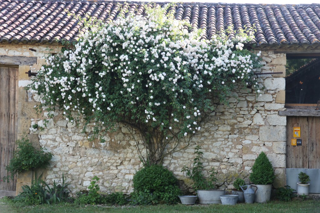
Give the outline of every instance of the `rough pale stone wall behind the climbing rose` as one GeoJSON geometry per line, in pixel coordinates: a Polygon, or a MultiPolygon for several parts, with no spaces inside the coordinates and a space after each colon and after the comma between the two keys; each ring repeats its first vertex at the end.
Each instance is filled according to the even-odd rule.
{"type": "MultiPolygon", "coordinates": [[[[44,62],[43,55],[56,52],[60,47],[44,46],[0,46],[0,54],[38,57],[34,66],[20,66],[19,72],[19,137],[28,134],[35,144],[47,148],[54,154],[50,166],[43,171],[48,183],[61,180],[62,173],[70,182],[72,193],[86,189],[93,176],[100,177],[100,189],[104,192],[132,192],[132,178],[142,167],[138,150],[128,130],[122,126],[105,136],[106,143],[87,140],[91,129],[80,133],[79,126],[68,123],[61,114],[50,120],[44,130],[34,130],[33,124],[43,126],[45,113],[37,115],[34,110],[38,97],[24,90],[30,78],[24,72],[36,70],[44,62]],[[36,52],[28,48],[36,49],[36,52]]],[[[229,105],[219,105],[200,133],[192,139],[191,146],[167,156],[164,166],[172,170],[178,179],[189,185],[180,172],[184,165],[190,166],[194,158],[194,147],[203,148],[205,167],[218,170],[221,189],[231,189],[236,177],[248,176],[258,154],[263,151],[272,162],[276,172],[275,187],[285,185],[285,140],[286,117],[278,115],[284,109],[285,64],[283,53],[262,51],[261,72],[283,72],[277,75],[261,75],[260,83],[265,86],[261,96],[251,89],[238,88],[231,92],[229,105]]],[[[18,177],[17,192],[22,184],[30,182],[28,174],[18,177]]]]}

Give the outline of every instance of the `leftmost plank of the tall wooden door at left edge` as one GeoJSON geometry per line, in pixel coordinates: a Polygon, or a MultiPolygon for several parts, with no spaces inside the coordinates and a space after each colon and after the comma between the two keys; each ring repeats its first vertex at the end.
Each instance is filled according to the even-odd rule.
{"type": "MultiPolygon", "coordinates": [[[[8,164],[8,121],[9,121],[9,79],[8,79],[9,69],[8,67],[1,67],[1,136],[0,143],[2,147],[2,156],[1,156],[1,173],[2,177],[7,176],[7,171],[5,170],[5,166],[8,164]]],[[[0,186],[0,190],[7,190],[7,183],[2,182],[3,184],[0,186]]]]}

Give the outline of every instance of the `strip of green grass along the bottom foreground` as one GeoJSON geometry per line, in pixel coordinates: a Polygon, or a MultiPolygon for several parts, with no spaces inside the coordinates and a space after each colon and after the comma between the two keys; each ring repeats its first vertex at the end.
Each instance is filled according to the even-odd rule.
{"type": "Polygon", "coordinates": [[[76,213],[93,213],[93,212],[194,212],[194,213],[282,213],[282,212],[294,212],[294,213],[313,213],[320,212],[319,201],[289,201],[279,202],[271,201],[269,203],[261,204],[237,204],[235,206],[223,206],[221,204],[212,205],[193,205],[185,206],[178,205],[157,205],[157,206],[120,206],[120,207],[108,207],[108,206],[79,206],[71,203],[60,203],[56,205],[39,205],[39,206],[26,206],[23,203],[13,203],[7,199],[0,200],[0,212],[8,213],[60,213],[60,212],[76,212],[76,213]]]}

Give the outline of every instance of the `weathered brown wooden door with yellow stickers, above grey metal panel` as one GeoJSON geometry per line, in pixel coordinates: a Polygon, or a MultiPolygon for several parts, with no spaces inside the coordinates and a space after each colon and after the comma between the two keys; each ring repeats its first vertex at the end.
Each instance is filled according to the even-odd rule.
{"type": "Polygon", "coordinates": [[[320,169],[320,117],[287,117],[287,168],[320,169]],[[293,127],[300,127],[300,138],[293,137],[293,127]],[[292,146],[291,139],[301,139],[292,146]]]}

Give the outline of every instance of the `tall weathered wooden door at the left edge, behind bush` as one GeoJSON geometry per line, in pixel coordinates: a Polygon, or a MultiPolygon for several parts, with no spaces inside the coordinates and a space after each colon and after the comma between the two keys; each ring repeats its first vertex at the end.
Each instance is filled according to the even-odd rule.
{"type": "Polygon", "coordinates": [[[0,65],[0,190],[16,191],[16,179],[9,183],[6,165],[13,157],[18,130],[18,67],[0,65]]]}

